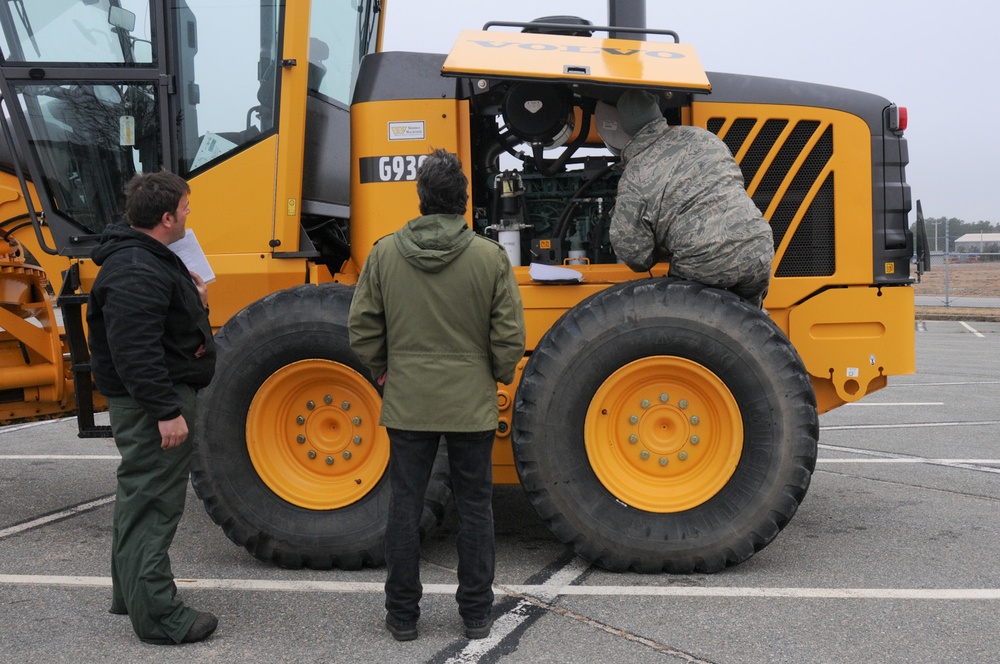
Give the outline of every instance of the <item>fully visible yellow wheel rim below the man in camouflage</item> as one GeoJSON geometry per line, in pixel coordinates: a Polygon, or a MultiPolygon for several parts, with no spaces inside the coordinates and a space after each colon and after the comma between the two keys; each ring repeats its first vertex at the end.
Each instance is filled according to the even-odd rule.
{"type": "Polygon", "coordinates": [[[605,488],[647,512],[703,504],[726,485],[743,451],[729,388],[702,365],[667,355],[611,374],[587,410],[584,433],[605,488]]]}

